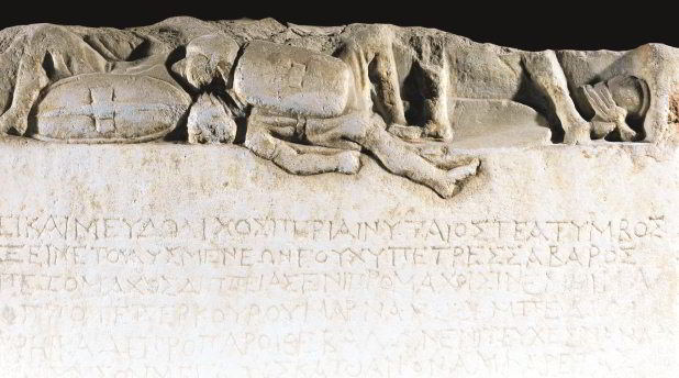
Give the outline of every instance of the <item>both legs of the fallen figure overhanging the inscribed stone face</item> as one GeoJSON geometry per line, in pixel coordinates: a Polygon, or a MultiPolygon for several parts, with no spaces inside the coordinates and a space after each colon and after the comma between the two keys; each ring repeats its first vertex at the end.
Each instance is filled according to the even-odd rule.
{"type": "Polygon", "coordinates": [[[479,160],[476,158],[455,156],[445,148],[424,151],[385,129],[382,119],[369,112],[352,112],[334,119],[308,119],[303,124],[292,118],[255,114],[248,121],[245,145],[256,155],[297,175],[355,173],[359,168],[359,152],[336,148],[355,149],[361,146],[375,154],[392,174],[427,186],[443,198],[453,197],[459,190],[459,181],[475,175],[478,169],[479,160]],[[268,125],[263,122],[265,120],[269,120],[268,125]],[[304,138],[313,146],[288,144],[271,134],[304,138]]]}

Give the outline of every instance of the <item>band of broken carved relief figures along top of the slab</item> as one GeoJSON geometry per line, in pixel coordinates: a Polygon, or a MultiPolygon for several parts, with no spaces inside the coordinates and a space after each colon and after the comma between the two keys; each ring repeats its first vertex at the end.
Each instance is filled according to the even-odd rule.
{"type": "Polygon", "coordinates": [[[181,125],[190,108],[189,142],[240,143],[299,175],[355,173],[363,149],[447,198],[479,160],[452,155],[445,144],[425,152],[409,140],[452,140],[450,98],[528,104],[571,144],[609,134],[658,142],[677,118],[678,54],[664,45],[533,53],[391,25],[327,33],[292,25],[291,36],[251,37],[254,29],[238,34],[175,21],[147,32],[3,31],[0,134],[142,142],[181,125]],[[321,47],[304,48],[307,37],[321,40],[309,44],[321,47]]]}

